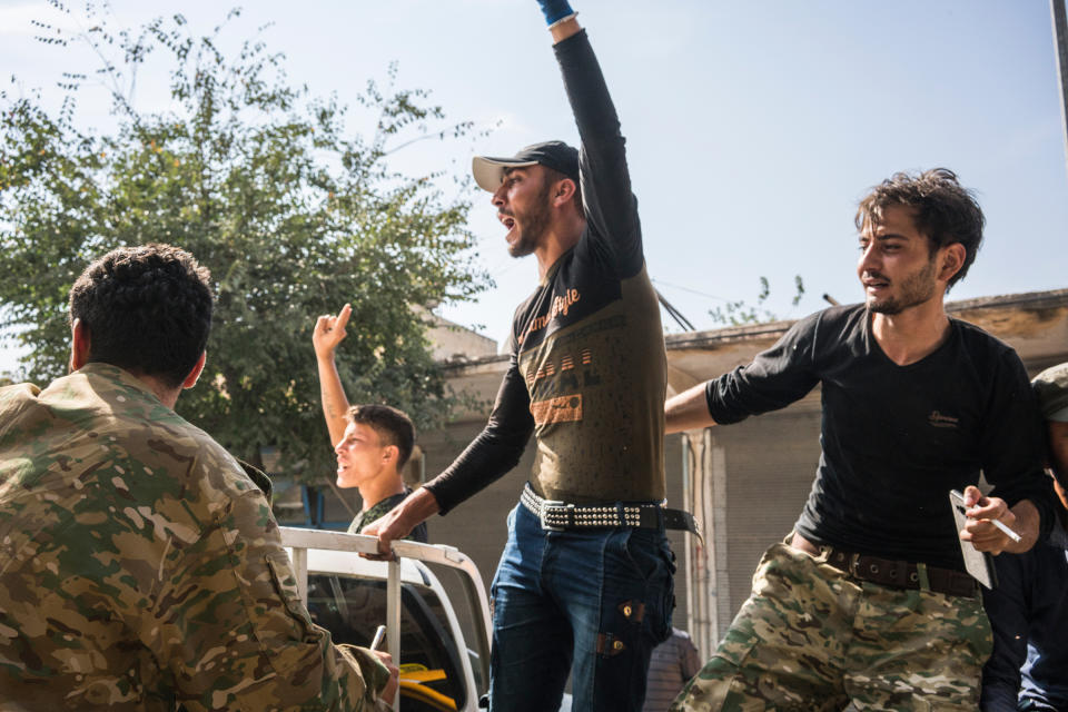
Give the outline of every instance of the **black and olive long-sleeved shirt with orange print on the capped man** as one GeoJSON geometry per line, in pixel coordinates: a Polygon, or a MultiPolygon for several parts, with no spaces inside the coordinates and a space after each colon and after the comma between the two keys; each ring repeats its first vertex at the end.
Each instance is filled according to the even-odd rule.
{"type": "Polygon", "coordinates": [[[664,337],[624,139],[585,32],[554,49],[582,137],[586,228],[516,309],[488,424],[426,485],[443,514],[514,467],[532,433],[531,484],[546,498],[665,494],[664,337]]]}

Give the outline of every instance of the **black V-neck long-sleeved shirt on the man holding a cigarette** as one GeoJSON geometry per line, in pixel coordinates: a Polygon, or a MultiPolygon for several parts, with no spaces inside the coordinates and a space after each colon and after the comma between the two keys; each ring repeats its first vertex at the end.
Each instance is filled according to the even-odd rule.
{"type": "MultiPolygon", "coordinates": [[[[977,484],[1052,522],[1042,423],[1016,352],[950,319],[950,336],[908,366],[876,343],[863,305],[801,319],[748,366],[709,382],[716,423],[784,407],[822,384],[822,454],[797,523],[805,538],[963,570],[950,490],[977,484]]],[[[769,444],[770,445],[770,444],[769,444]]]]}

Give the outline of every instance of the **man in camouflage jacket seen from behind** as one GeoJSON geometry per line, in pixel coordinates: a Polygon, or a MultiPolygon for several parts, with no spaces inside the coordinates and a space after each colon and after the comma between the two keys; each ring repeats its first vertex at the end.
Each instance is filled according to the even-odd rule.
{"type": "Polygon", "coordinates": [[[0,701],[20,710],[372,710],[380,656],[301,604],[256,477],[172,409],[208,273],[113,250],[70,293],[72,373],[0,389],[0,701]]]}

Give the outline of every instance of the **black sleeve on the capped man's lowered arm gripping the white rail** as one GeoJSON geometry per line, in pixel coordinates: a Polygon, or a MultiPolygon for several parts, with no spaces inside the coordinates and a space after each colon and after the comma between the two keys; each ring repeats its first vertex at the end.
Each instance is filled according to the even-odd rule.
{"type": "Polygon", "coordinates": [[[445,472],[426,484],[439,513],[448,513],[515,467],[533,432],[531,399],[513,350],[486,427],[445,472]]]}

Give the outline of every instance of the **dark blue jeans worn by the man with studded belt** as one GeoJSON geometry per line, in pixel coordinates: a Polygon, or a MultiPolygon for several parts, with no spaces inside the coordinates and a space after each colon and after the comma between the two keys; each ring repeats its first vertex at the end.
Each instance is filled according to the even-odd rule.
{"type": "Polygon", "coordinates": [[[523,505],[493,580],[492,712],[639,711],[671,634],[674,554],[663,530],[542,530],[523,505]]]}

